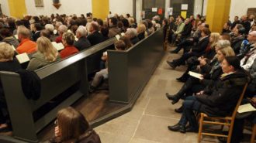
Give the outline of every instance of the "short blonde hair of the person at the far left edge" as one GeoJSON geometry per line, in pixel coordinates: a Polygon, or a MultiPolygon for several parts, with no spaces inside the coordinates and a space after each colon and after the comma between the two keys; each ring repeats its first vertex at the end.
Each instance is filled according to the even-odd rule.
{"type": "Polygon", "coordinates": [[[0,43],[0,60],[13,60],[14,50],[12,46],[8,43],[2,42],[0,43]]]}

